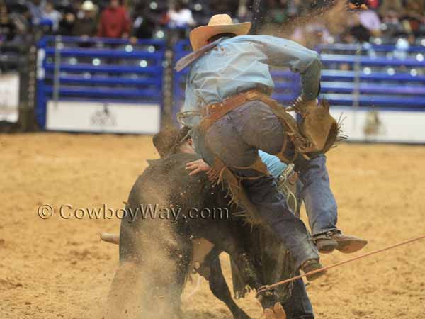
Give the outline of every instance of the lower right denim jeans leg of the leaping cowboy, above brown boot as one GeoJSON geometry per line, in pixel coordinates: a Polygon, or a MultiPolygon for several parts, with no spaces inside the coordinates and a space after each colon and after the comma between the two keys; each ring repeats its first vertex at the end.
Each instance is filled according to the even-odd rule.
{"type": "Polygon", "coordinates": [[[319,155],[311,159],[307,169],[300,172],[300,180],[312,235],[336,230],[337,206],[329,185],[326,157],[319,155]]]}

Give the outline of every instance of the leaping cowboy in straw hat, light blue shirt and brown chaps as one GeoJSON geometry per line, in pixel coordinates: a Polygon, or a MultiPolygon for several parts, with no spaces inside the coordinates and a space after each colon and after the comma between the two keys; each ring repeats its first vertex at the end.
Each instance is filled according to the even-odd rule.
{"type": "MultiPolygon", "coordinates": [[[[317,106],[321,70],[317,52],[290,40],[247,35],[250,28],[251,23],[233,24],[230,16],[215,15],[208,26],[191,31],[194,52],[176,66],[190,65],[180,118],[193,126],[196,151],[217,172],[214,176],[225,180],[234,201],[249,215],[260,216],[288,247],[296,267],[310,272],[322,268],[317,247],[302,220],[288,209],[258,150],[293,162],[305,187],[307,209],[336,223],[324,152],[336,142],[339,126],[329,116],[329,107],[317,106]],[[270,98],[274,87],[270,65],[300,72],[302,95],[293,109],[302,116],[301,123],[270,98]]],[[[330,224],[324,233],[314,234],[316,238],[327,234],[324,250],[337,245],[341,235],[330,224]]]]}

